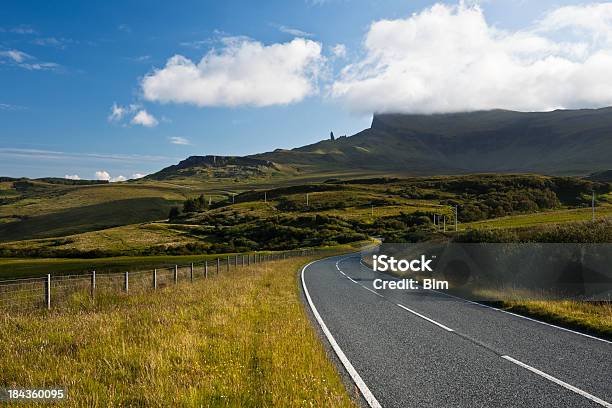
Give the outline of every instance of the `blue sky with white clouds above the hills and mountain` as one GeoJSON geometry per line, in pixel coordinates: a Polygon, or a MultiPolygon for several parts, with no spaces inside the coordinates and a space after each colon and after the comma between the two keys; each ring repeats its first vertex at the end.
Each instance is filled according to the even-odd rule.
{"type": "MultiPolygon", "coordinates": [[[[589,84],[580,81],[609,68],[610,42],[601,38],[612,32],[606,31],[610,19],[601,20],[603,28],[593,33],[564,17],[576,15],[570,5],[580,7],[585,19],[601,16],[604,9],[587,10],[576,1],[490,0],[470,14],[471,4],[460,6],[467,11],[458,11],[456,2],[446,4],[449,8],[432,11],[432,2],[395,0],[4,1],[0,176],[131,178],[189,155],[292,148],[326,138],[330,130],[354,134],[369,126],[374,111],[608,104],[594,92],[555,93],[558,83],[542,79],[559,73],[565,76],[558,81],[588,90],[589,84]],[[446,31],[435,28],[440,19],[448,21],[443,27],[456,26],[455,34],[438,36],[446,31]],[[472,36],[468,26],[479,19],[486,20],[487,33],[472,36]],[[372,26],[381,20],[390,24],[372,26]],[[431,27],[432,35],[389,44],[431,27]],[[510,91],[492,92],[507,88],[506,83],[485,75],[482,89],[474,91],[480,93],[466,97],[463,90],[476,73],[439,70],[448,61],[441,60],[442,53],[423,56],[417,40],[419,47],[432,50],[472,41],[474,50],[491,46],[490,55],[503,50],[516,59],[529,53],[520,72],[503,75],[538,85],[528,99],[517,98],[510,91]],[[522,45],[517,51],[508,44],[522,45]],[[183,58],[178,66],[168,65],[174,55],[183,58]],[[207,65],[198,65],[205,55],[210,56],[207,65]],[[550,61],[551,56],[571,64],[549,64],[544,72],[538,68],[542,64],[532,64],[534,58],[550,61]],[[418,69],[416,59],[422,61],[418,69]],[[225,70],[232,72],[230,78],[225,70]],[[453,78],[465,81],[463,88],[448,90],[453,78]],[[442,98],[418,91],[422,84],[439,87],[442,98]],[[261,92],[253,95],[249,87],[261,92]],[[479,98],[485,93],[495,97],[479,98]]],[[[607,13],[609,4],[602,6],[607,13]]],[[[474,51],[473,58],[488,60],[487,55],[474,51]]],[[[507,65],[502,58],[488,66],[496,63],[507,65]]]]}

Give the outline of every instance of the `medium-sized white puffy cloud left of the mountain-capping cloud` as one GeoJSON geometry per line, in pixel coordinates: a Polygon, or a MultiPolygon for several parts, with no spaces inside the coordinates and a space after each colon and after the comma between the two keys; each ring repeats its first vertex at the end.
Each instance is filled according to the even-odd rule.
{"type": "Polygon", "coordinates": [[[198,63],[175,55],[142,80],[144,97],[197,106],[270,106],[299,102],[317,92],[321,45],[296,38],[263,45],[225,38],[198,63]]]}

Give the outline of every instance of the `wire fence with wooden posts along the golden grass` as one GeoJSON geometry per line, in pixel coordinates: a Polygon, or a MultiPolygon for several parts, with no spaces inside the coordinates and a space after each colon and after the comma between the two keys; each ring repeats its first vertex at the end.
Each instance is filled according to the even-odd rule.
{"type": "Polygon", "coordinates": [[[236,254],[188,265],[174,265],[148,270],[75,275],[51,275],[37,278],[0,280],[0,311],[51,309],[68,303],[74,296],[95,299],[102,294],[135,294],[173,286],[179,282],[212,278],[247,266],[257,266],[287,258],[324,255],[333,250],[306,249],[277,253],[236,254]]]}

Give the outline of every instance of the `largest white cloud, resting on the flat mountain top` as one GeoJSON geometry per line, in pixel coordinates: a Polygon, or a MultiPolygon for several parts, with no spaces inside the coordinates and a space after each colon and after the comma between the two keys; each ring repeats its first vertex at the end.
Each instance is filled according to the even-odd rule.
{"type": "Polygon", "coordinates": [[[437,4],[372,23],[364,47],[330,87],[356,112],[612,104],[612,3],[561,7],[515,31],[478,6],[437,4]]]}

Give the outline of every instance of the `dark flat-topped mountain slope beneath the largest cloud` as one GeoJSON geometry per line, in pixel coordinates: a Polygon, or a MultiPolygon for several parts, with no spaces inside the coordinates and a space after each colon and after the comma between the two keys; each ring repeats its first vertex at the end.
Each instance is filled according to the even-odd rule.
{"type": "Polygon", "coordinates": [[[585,175],[610,168],[612,108],[380,114],[356,135],[251,157],[312,171],[585,175]]]}

